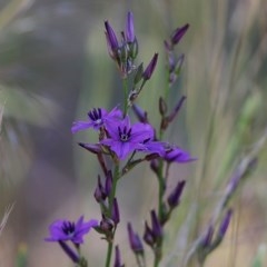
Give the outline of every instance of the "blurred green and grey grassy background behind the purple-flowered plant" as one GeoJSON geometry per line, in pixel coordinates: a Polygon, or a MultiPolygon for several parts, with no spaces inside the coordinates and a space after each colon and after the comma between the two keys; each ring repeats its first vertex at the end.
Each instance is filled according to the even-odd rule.
{"type": "MultiPolygon", "coordinates": [[[[170,105],[187,102],[166,135],[198,158],[172,166],[171,188],[187,179],[180,209],[167,227],[162,266],[178,266],[204,229],[230,174],[267,126],[266,0],[0,0],[0,208],[14,204],[0,236],[0,266],[71,266],[59,246],[47,244],[48,225],[57,218],[98,218],[92,192],[99,171],[96,158],[77,146],[95,141],[91,132],[72,136],[73,120],[93,107],[111,109],[122,100],[121,83],[103,33],[109,20],[123,30],[127,11],[135,16],[138,62],[159,52],[155,76],[139,105],[155,112],[166,88],[162,40],[185,23],[179,44],[182,75],[170,92],[170,105]]],[[[266,266],[266,146],[258,167],[235,197],[231,227],[206,266],[266,266]],[[259,256],[258,256],[259,255],[259,256]]],[[[156,205],[155,177],[141,166],[118,188],[121,217],[141,234],[156,205]],[[137,197],[138,196],[138,197],[137,197]],[[155,200],[154,200],[155,199],[155,200]]],[[[85,253],[90,266],[103,266],[106,244],[92,233],[85,253]],[[93,241],[93,245],[92,245],[93,241]]],[[[127,266],[136,266],[126,225],[118,243],[127,266]]],[[[149,250],[149,249],[148,249],[149,250]]],[[[151,255],[148,253],[148,261],[151,255]]],[[[149,266],[149,265],[148,265],[149,266]]]]}

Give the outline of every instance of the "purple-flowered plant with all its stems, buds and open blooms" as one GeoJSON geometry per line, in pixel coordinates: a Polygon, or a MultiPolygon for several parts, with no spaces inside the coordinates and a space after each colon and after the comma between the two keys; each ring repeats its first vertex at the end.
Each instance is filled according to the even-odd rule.
{"type": "MultiPolygon", "coordinates": [[[[127,229],[129,245],[136,256],[137,266],[147,266],[144,246],[144,243],[146,243],[154,253],[154,266],[157,267],[164,257],[165,228],[171,219],[172,211],[179,206],[186,186],[186,180],[178,180],[176,187],[167,192],[169,167],[172,164],[188,164],[196,160],[188,151],[164,139],[166,130],[176,119],[186,97],[181,96],[171,111],[168,111],[170,109],[168,93],[165,92],[164,97],[159,98],[158,105],[161,117],[160,126],[159,129],[154,127],[149,121],[148,113],[139,107],[137,100],[141,96],[146,83],[151,79],[159,56],[156,52],[146,68],[142,63],[136,66],[139,47],[131,12],[127,14],[125,31],[121,32],[120,40],[108,21],[105,21],[105,29],[109,56],[115,61],[121,77],[123,103],[118,103],[111,111],[99,107],[92,108],[88,112],[87,121],[76,121],[71,128],[73,134],[90,129],[98,135],[97,144],[79,142],[79,145],[97,156],[105,177],[103,180],[100,175],[98,176],[93,194],[100,208],[101,219],[100,221],[91,219],[88,222],[83,222],[83,217],[80,217],[77,222],[57,220],[50,226],[50,237],[46,240],[59,243],[63,251],[77,266],[86,267],[88,261],[80,254],[80,246],[83,243],[83,236],[93,228],[107,241],[105,266],[125,266],[119,245],[115,244],[115,236],[122,220],[119,211],[120,201],[117,198],[117,185],[132,168],[141,162],[147,162],[157,177],[158,206],[150,210],[150,221],[145,221],[142,239],[134,230],[131,222],[127,224],[127,229]],[[132,122],[132,113],[138,120],[137,122],[132,122]],[[69,246],[69,243],[72,246],[69,246]],[[113,261],[111,260],[112,255],[113,261]]],[[[174,87],[179,78],[185,56],[177,55],[176,46],[179,44],[188,29],[189,24],[177,28],[170,38],[164,42],[168,75],[166,90],[174,87]]],[[[189,248],[185,258],[185,266],[196,255],[202,266],[207,256],[221,243],[233,215],[233,209],[228,207],[229,199],[246,171],[254,164],[255,160],[251,156],[246,161],[245,168],[237,171],[230,179],[207,230],[202,231],[189,248]]]]}

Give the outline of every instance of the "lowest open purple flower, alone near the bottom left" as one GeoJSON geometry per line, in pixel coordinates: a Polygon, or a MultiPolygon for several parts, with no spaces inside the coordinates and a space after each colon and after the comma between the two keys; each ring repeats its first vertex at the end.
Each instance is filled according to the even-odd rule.
{"type": "Polygon", "coordinates": [[[70,240],[75,244],[82,244],[83,235],[86,235],[92,227],[97,225],[98,221],[95,219],[83,222],[83,216],[81,216],[77,222],[59,219],[50,225],[50,237],[46,238],[46,241],[70,240]]]}

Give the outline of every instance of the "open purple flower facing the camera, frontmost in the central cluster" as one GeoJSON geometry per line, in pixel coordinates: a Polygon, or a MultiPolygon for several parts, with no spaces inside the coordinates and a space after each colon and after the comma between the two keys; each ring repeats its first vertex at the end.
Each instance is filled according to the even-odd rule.
{"type": "Polygon", "coordinates": [[[134,150],[144,149],[144,141],[154,137],[150,125],[137,122],[131,126],[128,116],[120,122],[108,123],[107,131],[109,138],[101,144],[110,147],[119,159],[125,159],[134,150]]]}

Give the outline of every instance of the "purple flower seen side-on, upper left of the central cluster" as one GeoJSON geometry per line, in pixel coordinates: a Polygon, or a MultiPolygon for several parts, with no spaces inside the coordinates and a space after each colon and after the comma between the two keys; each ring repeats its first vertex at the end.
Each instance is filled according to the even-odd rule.
{"type": "Polygon", "coordinates": [[[71,127],[71,131],[75,134],[79,130],[86,130],[89,128],[93,128],[95,130],[99,130],[100,127],[106,123],[113,122],[122,118],[122,112],[116,107],[110,112],[108,112],[103,108],[93,108],[88,112],[88,121],[76,121],[71,127]]]}

